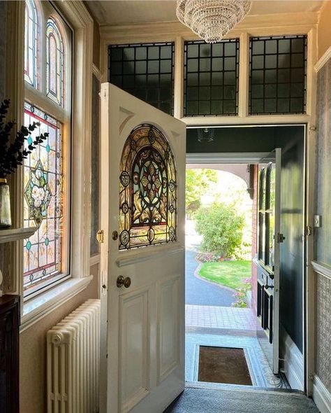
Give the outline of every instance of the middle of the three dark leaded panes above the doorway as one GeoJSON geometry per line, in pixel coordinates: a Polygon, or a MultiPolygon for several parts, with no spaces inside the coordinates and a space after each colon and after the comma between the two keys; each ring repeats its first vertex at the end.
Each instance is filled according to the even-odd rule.
{"type": "Polygon", "coordinates": [[[184,116],[233,116],[238,111],[239,40],[184,43],[184,116]],[[226,85],[221,94],[215,86],[226,85]],[[198,99],[191,86],[198,86],[198,99]],[[192,102],[197,99],[198,102],[192,102]],[[212,100],[219,102],[212,104],[212,100]],[[223,99],[227,99],[227,102],[223,99]]]}

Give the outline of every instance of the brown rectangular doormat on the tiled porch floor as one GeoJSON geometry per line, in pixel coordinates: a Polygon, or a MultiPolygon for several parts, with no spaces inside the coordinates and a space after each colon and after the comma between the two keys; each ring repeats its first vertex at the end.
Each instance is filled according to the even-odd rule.
{"type": "Polygon", "coordinates": [[[253,386],[244,349],[199,346],[198,381],[253,386]]]}

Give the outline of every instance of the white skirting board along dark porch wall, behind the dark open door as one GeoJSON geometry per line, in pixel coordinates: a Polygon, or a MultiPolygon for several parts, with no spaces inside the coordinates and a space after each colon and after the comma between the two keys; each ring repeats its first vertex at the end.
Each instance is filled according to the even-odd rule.
{"type": "Polygon", "coordinates": [[[280,326],[280,351],[284,358],[284,374],[291,388],[304,391],[304,364],[301,351],[297,348],[288,332],[280,326]]]}

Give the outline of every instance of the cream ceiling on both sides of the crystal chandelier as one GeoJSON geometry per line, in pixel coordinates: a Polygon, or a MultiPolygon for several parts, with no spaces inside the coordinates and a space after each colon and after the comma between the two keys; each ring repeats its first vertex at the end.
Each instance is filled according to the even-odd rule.
{"type": "MultiPolygon", "coordinates": [[[[89,0],[89,10],[100,25],[171,22],[176,18],[172,0],[89,0]]],[[[250,15],[317,11],[323,0],[253,0],[250,15]]]]}

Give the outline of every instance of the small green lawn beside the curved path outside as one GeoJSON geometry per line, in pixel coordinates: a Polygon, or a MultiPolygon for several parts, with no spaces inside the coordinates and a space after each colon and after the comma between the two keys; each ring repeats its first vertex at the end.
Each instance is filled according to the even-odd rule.
{"type": "Polygon", "coordinates": [[[199,275],[208,281],[237,290],[242,287],[244,279],[251,278],[251,261],[204,262],[199,275]]]}

